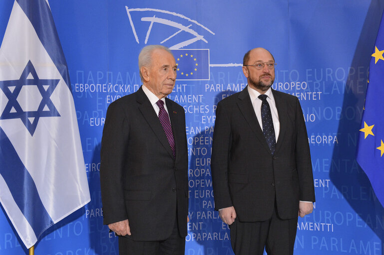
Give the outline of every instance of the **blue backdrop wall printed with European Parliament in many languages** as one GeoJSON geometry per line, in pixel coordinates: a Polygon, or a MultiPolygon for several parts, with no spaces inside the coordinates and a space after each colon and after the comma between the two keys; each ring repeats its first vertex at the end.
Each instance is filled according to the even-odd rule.
{"type": "MultiPolygon", "coordinates": [[[[0,1],[0,41],[12,4],[0,1]]],[[[169,95],[186,112],[191,219],[186,255],[233,254],[229,230],[213,211],[212,133],[216,104],[246,86],[240,66],[255,47],[272,52],[273,88],[299,98],[307,124],[317,202],[312,214],[299,219],[295,254],[384,254],[384,209],[355,160],[383,0],[49,4],[68,63],[91,202],[49,229],[36,254],[118,253],[116,237],[102,225],[101,133],[108,105],[141,85],[137,57],[146,44],[181,49],[174,55],[184,60],[184,49],[200,50],[190,61],[197,70],[184,73],[178,60],[181,70],[169,95]]],[[[26,252],[2,210],[0,254],[26,252]]]]}

